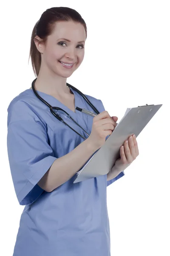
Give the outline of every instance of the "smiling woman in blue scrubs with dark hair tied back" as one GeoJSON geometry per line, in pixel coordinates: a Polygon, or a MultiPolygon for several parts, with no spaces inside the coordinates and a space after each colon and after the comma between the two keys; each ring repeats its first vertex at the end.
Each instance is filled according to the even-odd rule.
{"type": "Polygon", "coordinates": [[[106,188],[124,175],[139,151],[136,138],[129,138],[108,175],[73,183],[117,121],[92,96],[85,95],[97,116],[75,109],[93,111],[66,83],[82,63],[86,38],[85,21],[66,7],[47,9],[34,26],[30,55],[37,79],[8,106],[8,158],[17,199],[25,205],[13,256],[111,255],[106,188]],[[59,122],[34,88],[90,136],[62,111],[57,113],[79,134],[59,122]]]}

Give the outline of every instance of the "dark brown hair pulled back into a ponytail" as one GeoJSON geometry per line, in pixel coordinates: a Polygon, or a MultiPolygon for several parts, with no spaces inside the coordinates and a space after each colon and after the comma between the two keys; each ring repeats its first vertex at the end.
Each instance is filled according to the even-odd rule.
{"type": "MultiPolygon", "coordinates": [[[[85,28],[85,34],[87,38],[87,26],[82,16],[74,9],[68,7],[52,7],[47,9],[42,13],[40,20],[34,26],[31,35],[31,46],[29,58],[31,57],[31,64],[35,76],[38,76],[41,66],[41,53],[37,50],[37,47],[34,43],[35,36],[41,38],[42,43],[46,43],[48,35],[51,35],[57,21],[76,21],[81,23],[85,28]]],[[[37,40],[37,38],[35,39],[37,40]]],[[[29,62],[29,59],[28,59],[29,62]]]]}

